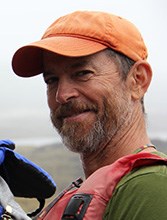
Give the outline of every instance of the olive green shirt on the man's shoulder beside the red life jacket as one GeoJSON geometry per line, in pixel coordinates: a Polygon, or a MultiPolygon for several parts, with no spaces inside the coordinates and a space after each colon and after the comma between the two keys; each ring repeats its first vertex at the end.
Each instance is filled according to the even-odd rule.
{"type": "MultiPolygon", "coordinates": [[[[167,158],[161,152],[155,154],[167,158]]],[[[143,166],[135,168],[120,180],[108,203],[103,219],[111,219],[112,216],[114,220],[165,220],[166,204],[167,165],[143,166]]]]}

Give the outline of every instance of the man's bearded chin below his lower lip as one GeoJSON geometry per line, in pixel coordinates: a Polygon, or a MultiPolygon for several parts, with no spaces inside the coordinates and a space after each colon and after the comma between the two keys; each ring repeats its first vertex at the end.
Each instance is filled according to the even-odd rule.
{"type": "Polygon", "coordinates": [[[100,121],[63,123],[57,127],[63,144],[76,153],[91,153],[97,150],[104,138],[104,130],[100,121]]]}

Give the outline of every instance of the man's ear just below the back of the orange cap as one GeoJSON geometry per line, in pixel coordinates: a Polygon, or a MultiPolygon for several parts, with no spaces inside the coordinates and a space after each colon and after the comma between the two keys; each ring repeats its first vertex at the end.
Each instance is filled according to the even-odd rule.
{"type": "Polygon", "coordinates": [[[152,79],[152,69],[144,60],[137,61],[128,74],[128,84],[134,100],[140,100],[146,93],[152,79]]]}

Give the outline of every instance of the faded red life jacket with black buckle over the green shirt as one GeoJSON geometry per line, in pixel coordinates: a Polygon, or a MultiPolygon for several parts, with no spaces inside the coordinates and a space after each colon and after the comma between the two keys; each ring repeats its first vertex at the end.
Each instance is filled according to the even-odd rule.
{"type": "Polygon", "coordinates": [[[123,176],[134,168],[167,164],[167,159],[150,153],[124,156],[89,176],[80,188],[55,199],[43,210],[38,220],[101,220],[114,189],[123,176]]]}

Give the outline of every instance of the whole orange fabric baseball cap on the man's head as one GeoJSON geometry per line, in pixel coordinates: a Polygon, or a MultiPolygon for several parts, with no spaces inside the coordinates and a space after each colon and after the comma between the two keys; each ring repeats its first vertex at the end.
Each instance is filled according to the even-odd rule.
{"type": "Polygon", "coordinates": [[[43,50],[78,57],[105,48],[112,48],[134,61],[147,58],[143,38],[128,20],[105,12],[76,11],[57,19],[41,40],[18,49],[12,67],[19,76],[35,76],[43,72],[43,50]]]}

